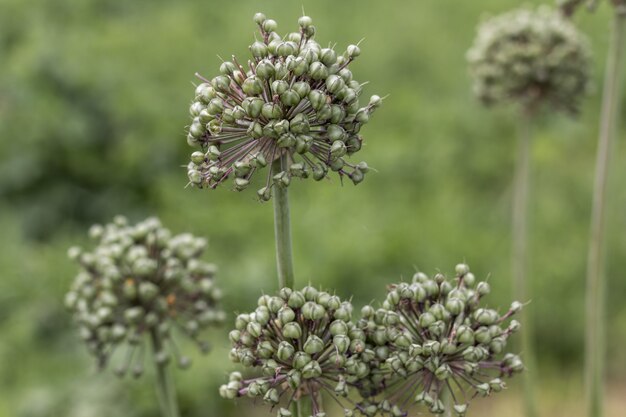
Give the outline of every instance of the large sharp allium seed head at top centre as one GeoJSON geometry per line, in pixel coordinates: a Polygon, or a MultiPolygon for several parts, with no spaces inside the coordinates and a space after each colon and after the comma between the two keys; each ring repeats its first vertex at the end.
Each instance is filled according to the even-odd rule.
{"type": "Polygon", "coordinates": [[[322,48],[313,40],[308,16],[298,20],[299,31],[284,38],[262,13],[254,21],[261,40],[250,45],[247,64],[233,56],[222,63],[221,75],[198,76],[204,82],[190,107],[187,141],[201,150],[191,154],[190,184],[215,188],[232,177],[241,191],[255,171],[274,162],[258,190],[262,201],[271,198],[272,187],[287,187],[292,178],[319,181],[334,171],[355,184],[363,181],[367,163],[352,164],[346,157],[361,149],[361,127],[382,99],[374,95],[360,104],[363,84],[348,69],[359,46],[349,45],[342,54],[322,48]]]}

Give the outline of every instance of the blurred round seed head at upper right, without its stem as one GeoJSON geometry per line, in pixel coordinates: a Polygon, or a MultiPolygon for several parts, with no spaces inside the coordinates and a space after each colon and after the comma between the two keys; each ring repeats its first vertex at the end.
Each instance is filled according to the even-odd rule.
{"type": "Polygon", "coordinates": [[[467,54],[473,89],[485,104],[540,104],[576,112],[588,89],[588,41],[546,7],[518,9],[484,22],[467,54]]]}

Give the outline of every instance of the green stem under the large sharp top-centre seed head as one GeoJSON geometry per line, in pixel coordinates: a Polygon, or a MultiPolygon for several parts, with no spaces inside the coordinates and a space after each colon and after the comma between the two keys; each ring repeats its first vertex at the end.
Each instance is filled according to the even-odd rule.
{"type": "MultiPolygon", "coordinates": [[[[272,164],[272,173],[278,174],[286,165],[282,156],[272,164]]],[[[291,224],[289,220],[289,193],[287,187],[274,185],[274,234],[276,236],[276,266],[278,286],[293,287],[293,255],[291,252],[291,224]]]]}

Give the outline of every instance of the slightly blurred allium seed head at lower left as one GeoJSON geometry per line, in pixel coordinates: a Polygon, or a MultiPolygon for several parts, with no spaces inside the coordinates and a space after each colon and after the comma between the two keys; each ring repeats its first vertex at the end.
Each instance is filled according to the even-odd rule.
{"type": "Polygon", "coordinates": [[[92,226],[89,235],[97,241],[92,251],[69,250],[80,272],[65,305],[101,368],[117,348],[126,347],[116,373],[140,376],[147,338],[159,364],[173,357],[186,368],[190,360],[179,352],[174,333],[208,350],[199,332],[222,322],[224,312],[218,308],[216,267],[200,260],[206,239],[172,236],[156,218],[129,225],[122,216],[111,224],[92,226]]]}

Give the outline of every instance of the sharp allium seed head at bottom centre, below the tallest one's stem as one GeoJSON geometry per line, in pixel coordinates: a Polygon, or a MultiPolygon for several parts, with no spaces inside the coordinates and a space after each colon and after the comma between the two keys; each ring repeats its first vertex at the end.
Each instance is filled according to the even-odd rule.
{"type": "MultiPolygon", "coordinates": [[[[291,416],[291,404],[302,397],[311,401],[314,417],[324,416],[322,392],[351,404],[349,389],[367,378],[373,360],[351,317],[349,302],[310,286],[259,298],[254,312],[236,319],[230,357],[260,375],[234,372],[220,395],[262,399],[278,408],[279,417],[291,416]]],[[[353,415],[354,405],[342,407],[346,416],[353,415]]]]}

